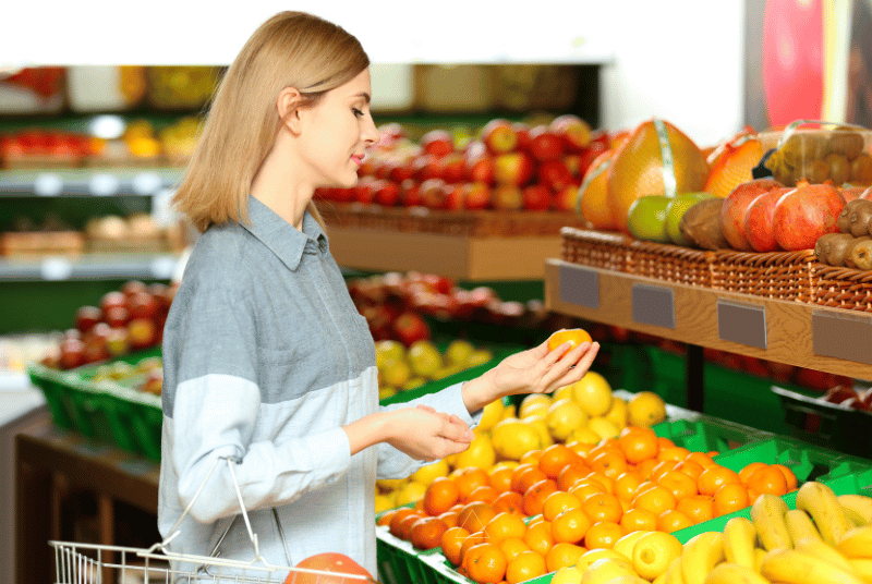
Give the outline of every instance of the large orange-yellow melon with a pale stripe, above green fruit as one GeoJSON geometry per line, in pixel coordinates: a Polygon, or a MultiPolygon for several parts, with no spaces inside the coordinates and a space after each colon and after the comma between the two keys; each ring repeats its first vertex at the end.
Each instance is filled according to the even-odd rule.
{"type": "Polygon", "coordinates": [[[611,162],[611,216],[618,229],[628,232],[627,212],[637,198],[703,191],[707,178],[708,163],[692,139],[669,122],[649,120],[633,130],[611,162]]]}

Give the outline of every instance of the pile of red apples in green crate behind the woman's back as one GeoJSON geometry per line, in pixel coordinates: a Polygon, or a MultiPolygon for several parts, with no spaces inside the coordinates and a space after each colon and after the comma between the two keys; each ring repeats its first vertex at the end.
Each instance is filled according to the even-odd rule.
{"type": "Polygon", "coordinates": [[[41,360],[48,367],[73,369],[159,345],[178,284],[125,282],[102,295],[99,306],[82,306],[75,327],[41,360]]]}

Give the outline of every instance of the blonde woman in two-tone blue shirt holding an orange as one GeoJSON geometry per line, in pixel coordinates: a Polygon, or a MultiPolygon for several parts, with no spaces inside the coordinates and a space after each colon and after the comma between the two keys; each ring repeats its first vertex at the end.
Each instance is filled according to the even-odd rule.
{"type": "MultiPolygon", "coordinates": [[[[264,23],[218,88],[175,196],[202,235],[164,336],[165,537],[203,491],[173,551],[208,555],[240,512],[226,463],[206,480],[230,457],[266,561],[337,551],[375,574],[376,478],[464,450],[485,404],[574,382],[596,355],[543,344],[379,407],[373,339],[312,203],[318,186],[356,182],[378,141],[371,92],[359,41],[299,12],[264,23]]],[[[220,555],[254,557],[242,522],[220,555]]]]}

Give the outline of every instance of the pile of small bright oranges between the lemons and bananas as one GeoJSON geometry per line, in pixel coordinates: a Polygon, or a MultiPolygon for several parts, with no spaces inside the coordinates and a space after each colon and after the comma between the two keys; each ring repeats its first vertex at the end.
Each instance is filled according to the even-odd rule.
{"type": "Polygon", "coordinates": [[[611,548],[628,533],[675,532],[797,488],[784,465],[754,462],[736,473],[714,454],[628,427],[596,446],[529,452],[513,467],[459,470],[379,524],[420,549],[441,548],[475,582],[514,584],[572,565],[588,549],[611,548]]]}

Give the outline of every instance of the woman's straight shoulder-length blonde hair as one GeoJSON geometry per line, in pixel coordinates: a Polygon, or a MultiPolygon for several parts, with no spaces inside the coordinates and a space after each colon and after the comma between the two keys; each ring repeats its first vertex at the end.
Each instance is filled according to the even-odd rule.
{"type": "MultiPolygon", "coordinates": [[[[252,181],[283,123],[276,108],[279,93],[293,87],[303,107],[314,106],[368,65],[360,41],[336,24],[305,12],[270,17],[218,85],[175,207],[201,232],[228,221],[247,223],[252,181]]],[[[314,203],[307,210],[324,227],[314,203]]]]}

